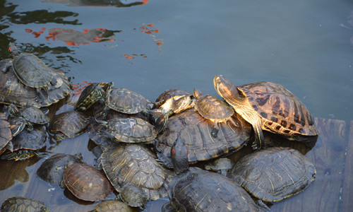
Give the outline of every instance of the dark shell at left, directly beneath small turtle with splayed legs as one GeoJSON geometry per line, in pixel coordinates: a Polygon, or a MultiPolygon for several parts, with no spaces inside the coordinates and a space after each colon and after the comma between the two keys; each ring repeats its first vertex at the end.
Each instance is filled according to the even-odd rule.
{"type": "Polygon", "coordinates": [[[13,137],[13,151],[18,149],[37,150],[43,148],[47,141],[47,131],[45,126],[35,126],[32,131],[23,130],[13,137]]]}

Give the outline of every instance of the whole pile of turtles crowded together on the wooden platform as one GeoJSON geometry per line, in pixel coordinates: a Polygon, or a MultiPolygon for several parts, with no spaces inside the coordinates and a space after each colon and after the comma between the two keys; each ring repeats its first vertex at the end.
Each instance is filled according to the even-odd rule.
{"type": "MultiPolygon", "coordinates": [[[[0,100],[8,105],[0,113],[1,159],[39,155],[35,150],[47,141],[48,123],[57,140],[88,129],[97,145],[95,167],[83,163],[80,155],[60,153],[47,158],[37,175],[85,201],[103,201],[114,189],[117,199],[103,201],[97,211],[142,208],[163,196],[171,201],[163,210],[263,211],[265,204],[256,204],[244,189],[259,200],[275,202],[313,180],[315,168],[304,155],[270,147],[263,135],[264,130],[311,147],[318,135],[302,102],[276,83],[234,86],[215,76],[215,90],[224,100],[198,89],[169,89],[155,102],[112,82],[92,83],[73,111],[49,119],[44,107],[68,95],[66,77],[33,54],[18,54],[14,45],[10,49],[13,61],[0,61],[0,100]],[[248,144],[253,153],[235,165],[225,158],[248,144]],[[205,170],[189,168],[201,167],[203,161],[208,163],[205,170]]],[[[7,201],[3,208],[10,202],[24,207],[29,201],[7,201]]]]}

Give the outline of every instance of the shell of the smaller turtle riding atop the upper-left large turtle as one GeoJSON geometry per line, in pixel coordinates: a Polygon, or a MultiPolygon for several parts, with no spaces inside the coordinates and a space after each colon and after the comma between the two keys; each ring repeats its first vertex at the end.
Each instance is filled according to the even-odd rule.
{"type": "Polygon", "coordinates": [[[16,56],[12,61],[12,66],[18,79],[31,88],[48,86],[54,76],[52,69],[31,53],[16,56]]]}

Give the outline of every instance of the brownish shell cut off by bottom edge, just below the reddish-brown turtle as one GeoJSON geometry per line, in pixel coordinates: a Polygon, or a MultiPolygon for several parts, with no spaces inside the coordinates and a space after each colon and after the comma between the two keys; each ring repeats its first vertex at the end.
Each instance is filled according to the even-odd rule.
{"type": "Polygon", "coordinates": [[[95,210],[90,212],[133,212],[136,211],[134,208],[128,206],[128,204],[123,201],[119,201],[116,199],[109,199],[101,201],[99,204],[95,205],[95,210]]]}

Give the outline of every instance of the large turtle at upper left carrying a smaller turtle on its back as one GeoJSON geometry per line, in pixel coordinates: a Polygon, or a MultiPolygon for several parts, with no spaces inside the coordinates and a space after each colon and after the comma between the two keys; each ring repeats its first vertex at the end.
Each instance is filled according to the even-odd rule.
{"type": "MultiPolygon", "coordinates": [[[[0,61],[0,69],[6,69],[6,64],[11,63],[11,59],[0,61]]],[[[48,86],[48,98],[42,102],[37,102],[37,91],[35,88],[25,86],[17,78],[12,66],[4,73],[0,71],[0,103],[9,105],[13,103],[18,107],[47,107],[63,99],[70,93],[71,85],[64,73],[53,71],[56,77],[56,84],[48,86]]]]}

